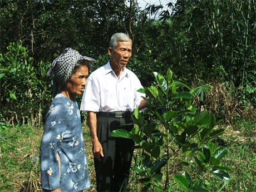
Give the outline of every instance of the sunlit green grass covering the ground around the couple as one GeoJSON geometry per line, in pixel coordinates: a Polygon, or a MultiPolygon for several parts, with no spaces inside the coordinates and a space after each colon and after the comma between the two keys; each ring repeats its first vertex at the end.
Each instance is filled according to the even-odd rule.
{"type": "MultiPolygon", "coordinates": [[[[42,191],[40,187],[40,165],[38,161],[39,147],[43,134],[42,127],[30,125],[9,126],[0,132],[0,189],[1,191],[42,191]]],[[[83,127],[83,135],[90,176],[91,188],[84,191],[96,191],[96,179],[91,151],[90,131],[83,127]]],[[[230,182],[222,189],[223,183],[209,174],[203,175],[208,180],[210,191],[255,191],[256,189],[256,140],[255,124],[241,121],[231,127],[228,126],[221,139],[225,141],[228,154],[222,161],[224,165],[233,169],[230,182]]],[[[218,147],[218,143],[214,144],[218,147]]],[[[183,155],[176,155],[170,161],[170,181],[174,174],[181,174],[184,170],[181,159],[183,155]]],[[[184,157],[185,158],[185,157],[184,157]]],[[[187,169],[193,171],[195,164],[187,169]]],[[[172,191],[180,191],[173,182],[172,191]]],[[[131,171],[128,191],[140,191],[141,184],[131,171]]]]}

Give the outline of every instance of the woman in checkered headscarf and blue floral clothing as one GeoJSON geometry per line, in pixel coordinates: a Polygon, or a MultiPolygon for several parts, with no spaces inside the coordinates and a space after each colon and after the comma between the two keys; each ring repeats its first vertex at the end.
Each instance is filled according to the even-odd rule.
{"type": "Polygon", "coordinates": [[[82,94],[95,60],[66,48],[51,64],[53,101],[46,115],[40,146],[43,191],[80,191],[90,188],[80,111],[82,94]]]}

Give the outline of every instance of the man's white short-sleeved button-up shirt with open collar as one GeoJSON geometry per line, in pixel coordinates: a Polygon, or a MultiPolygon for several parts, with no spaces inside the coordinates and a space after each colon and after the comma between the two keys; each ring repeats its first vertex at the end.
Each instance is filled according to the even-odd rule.
{"type": "Polygon", "coordinates": [[[124,68],[120,78],[110,66],[110,61],[93,71],[88,77],[83,92],[81,111],[134,111],[145,94],[137,92],[143,88],[139,78],[124,68]]]}

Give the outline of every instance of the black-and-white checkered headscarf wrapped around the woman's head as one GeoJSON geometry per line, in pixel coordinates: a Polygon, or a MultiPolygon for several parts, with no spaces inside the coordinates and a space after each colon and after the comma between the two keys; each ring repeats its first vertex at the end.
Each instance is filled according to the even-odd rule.
{"type": "Polygon", "coordinates": [[[87,60],[90,63],[95,62],[93,58],[81,56],[77,51],[72,50],[72,48],[66,48],[63,53],[52,62],[47,76],[51,76],[52,78],[53,97],[66,85],[75,64],[81,60],[87,60]]]}

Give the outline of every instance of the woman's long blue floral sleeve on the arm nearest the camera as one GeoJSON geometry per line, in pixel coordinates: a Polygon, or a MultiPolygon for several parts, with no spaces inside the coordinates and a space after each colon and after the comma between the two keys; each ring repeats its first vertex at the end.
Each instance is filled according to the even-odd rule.
{"type": "Polygon", "coordinates": [[[66,131],[67,108],[52,105],[46,116],[45,131],[40,146],[41,183],[43,189],[60,188],[60,170],[57,153],[66,131]]]}

